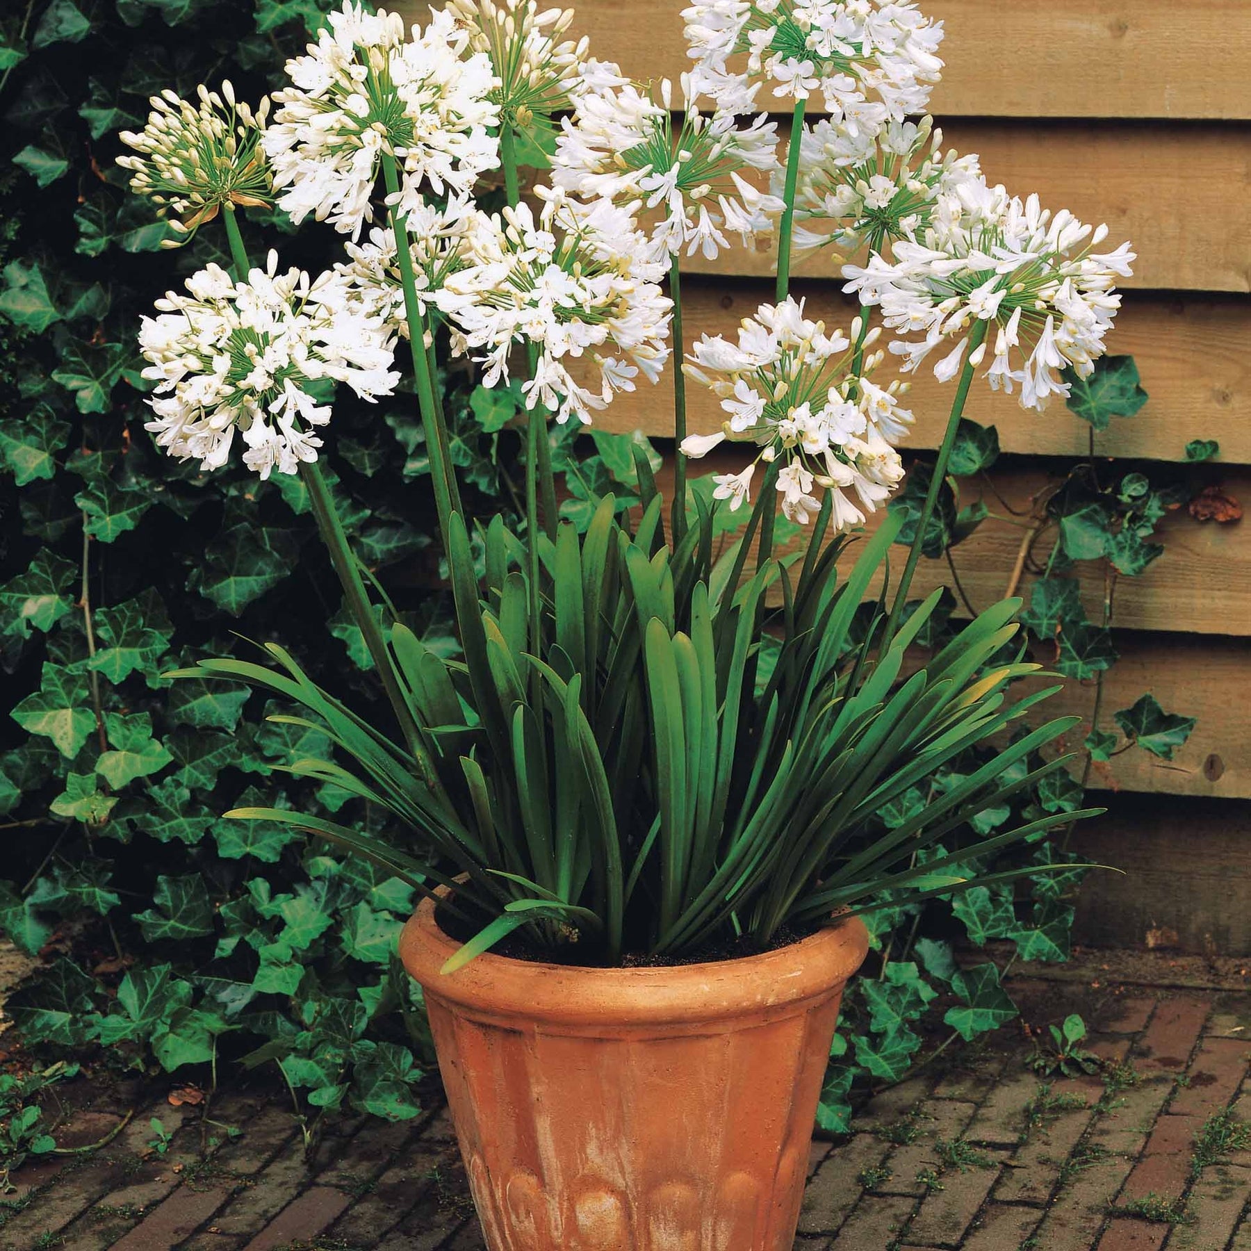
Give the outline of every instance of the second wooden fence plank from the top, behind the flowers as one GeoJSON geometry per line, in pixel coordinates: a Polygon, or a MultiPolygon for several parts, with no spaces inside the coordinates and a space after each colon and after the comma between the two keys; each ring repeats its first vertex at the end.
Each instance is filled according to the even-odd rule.
{"type": "MultiPolygon", "coordinates": [[[[783,133],[788,133],[783,124],[783,133]]],[[[1016,195],[1037,191],[1052,209],[1107,223],[1108,246],[1125,239],[1138,260],[1126,286],[1155,290],[1251,291],[1251,128],[1160,123],[961,120],[945,143],[977,153],[992,183],[1016,195]],[[1220,176],[1196,178],[1196,169],[1220,176]],[[1176,210],[1166,208],[1176,205],[1176,210]]],[[[829,249],[797,259],[793,273],[837,278],[829,249]]],[[[683,260],[691,273],[777,270],[774,253],[731,248],[716,260],[683,260]]]]}

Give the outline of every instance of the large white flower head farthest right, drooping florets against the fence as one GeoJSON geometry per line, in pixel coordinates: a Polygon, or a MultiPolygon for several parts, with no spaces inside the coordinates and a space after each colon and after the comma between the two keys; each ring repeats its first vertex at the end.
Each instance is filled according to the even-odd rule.
{"type": "Polygon", "coordinates": [[[936,349],[941,382],[955,378],[970,350],[970,334],[986,323],[986,342],[968,360],[990,354],[991,387],[1010,394],[1021,387],[1022,408],[1041,412],[1052,395],[1067,395],[1061,372],[1087,378],[1103,354],[1135,254],[1122,244],[1096,251],[1107,226],[1092,229],[1071,213],[1052,215],[1037,195],[1015,199],[983,180],[941,194],[928,228],[892,245],[893,260],[869,258],[847,265],[847,290],[881,305],[884,324],[898,333],[891,350],[916,370],[936,349]],[[918,337],[919,338],[916,338],[918,337]]]}

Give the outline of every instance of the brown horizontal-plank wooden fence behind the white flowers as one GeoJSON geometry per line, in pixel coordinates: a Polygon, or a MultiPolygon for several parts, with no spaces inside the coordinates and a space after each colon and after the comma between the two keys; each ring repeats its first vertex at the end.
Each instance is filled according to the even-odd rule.
{"type": "MultiPolygon", "coordinates": [[[[592,54],[641,80],[687,68],[681,0],[570,0],[592,54]]],[[[1235,498],[1251,497],[1251,0],[922,0],[947,38],[932,108],[951,145],[981,154],[992,181],[1051,208],[1111,226],[1110,246],[1138,253],[1110,339],[1137,358],[1151,394],[1113,420],[1098,455],[1180,462],[1192,439],[1217,439],[1208,470],[1235,498]]],[[[762,100],[767,96],[761,98],[762,100]]],[[[786,125],[783,120],[783,126],[786,125]]],[[[771,295],[772,258],[733,249],[689,261],[688,338],[732,332],[771,295]]],[[[809,308],[846,325],[852,306],[828,258],[796,269],[809,308]]],[[[692,390],[692,427],[719,424],[714,400],[692,390]]],[[[941,438],[950,394],[918,379],[908,447],[941,438]]],[[[1063,405],[1038,415],[975,389],[968,415],[998,428],[997,489],[1035,494],[1062,458],[1087,454],[1088,427],[1063,405]]],[[[602,424],[672,435],[667,387],[614,404],[602,424]]],[[[1126,877],[1096,874],[1082,899],[1082,936],[1102,945],[1175,943],[1251,955],[1251,530],[1166,523],[1166,554],[1117,584],[1113,626],[1122,659],[1110,674],[1110,714],[1151,691],[1198,727],[1172,762],[1143,752],[1101,776],[1110,813],[1083,849],[1126,877]]],[[[1012,583],[1020,534],[983,527],[958,549],[973,603],[1012,583]]],[[[927,562],[928,563],[928,562],[927,562]]],[[[940,580],[929,569],[922,583],[940,580]]],[[[1028,587],[1028,579],[1025,585],[1028,587]]],[[[1102,585],[1088,587],[1096,618],[1102,585]]],[[[1090,716],[1093,691],[1072,684],[1071,711],[1090,716]]]]}

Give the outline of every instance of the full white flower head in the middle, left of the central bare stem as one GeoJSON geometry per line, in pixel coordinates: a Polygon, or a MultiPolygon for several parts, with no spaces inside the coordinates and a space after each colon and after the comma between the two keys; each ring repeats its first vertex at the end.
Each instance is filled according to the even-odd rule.
{"type": "Polygon", "coordinates": [[[533,344],[527,407],[589,423],[615,392],[633,390],[639,373],[659,378],[673,308],[658,285],[664,266],[649,259],[637,205],[582,203],[553,188],[537,194],[537,216],[528,204],[505,209],[493,219],[483,258],[448,279],[453,349],[477,353],[483,382],[494,387],[508,379],[514,344],[533,344]],[[598,389],[569,373],[569,362],[583,357],[598,370],[598,389]]]}

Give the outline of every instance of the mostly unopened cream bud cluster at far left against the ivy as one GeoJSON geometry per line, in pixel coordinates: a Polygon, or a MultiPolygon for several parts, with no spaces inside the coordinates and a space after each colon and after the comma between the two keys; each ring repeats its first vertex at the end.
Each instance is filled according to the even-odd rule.
{"type": "Polygon", "coordinates": [[[183,238],[166,246],[185,243],[224,204],[264,208],[271,199],[260,150],[269,100],[253,111],[235,100],[229,81],[220,91],[200,86],[196,96],[193,104],[170,90],[154,95],[144,129],[119,136],[139,154],[118,158],[131,173],[130,189],[180,218],[171,226],[183,238]]]}

